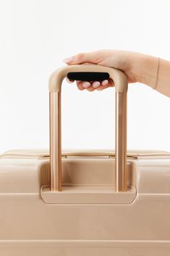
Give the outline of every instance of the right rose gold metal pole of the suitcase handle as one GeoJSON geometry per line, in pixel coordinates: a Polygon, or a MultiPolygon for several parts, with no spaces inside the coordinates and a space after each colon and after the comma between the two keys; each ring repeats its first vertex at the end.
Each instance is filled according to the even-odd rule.
{"type": "Polygon", "coordinates": [[[127,93],[116,92],[116,192],[127,190],[127,93]]]}

